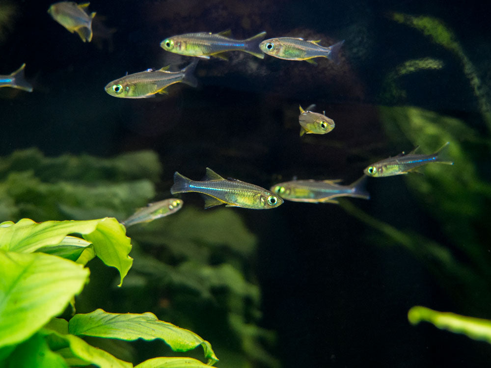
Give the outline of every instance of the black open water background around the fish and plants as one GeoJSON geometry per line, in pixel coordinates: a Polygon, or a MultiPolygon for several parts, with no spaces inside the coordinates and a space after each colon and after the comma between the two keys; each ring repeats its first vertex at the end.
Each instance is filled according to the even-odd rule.
{"type": "MultiPolygon", "coordinates": [[[[0,43],[0,73],[25,62],[34,92],[0,90],[2,156],[28,147],[48,156],[101,157],[151,149],[163,164],[157,189],[164,198],[174,171],[199,179],[207,166],[264,187],[294,176],[351,183],[371,162],[412,148],[408,137],[396,141],[387,133],[380,105],[417,106],[455,117],[489,139],[462,60],[388,16],[401,12],[445,22],[481,84],[489,87],[490,25],[487,6],[479,1],[93,1],[90,10],[105,18],[104,26],[94,25],[90,44],[51,19],[49,1],[11,3],[17,15],[0,43]],[[231,53],[228,62],[199,62],[196,89],[174,85],[168,96],[139,100],[105,93],[104,86],[126,72],[186,65],[189,58],[159,47],[165,37],[228,28],[237,38],[266,30],[269,37],[322,39],[324,45],[344,39],[342,62],[318,59],[315,67],[231,53]],[[398,65],[423,57],[442,60],[444,67],[397,79],[404,98],[383,93],[386,76],[398,65]],[[298,105],[312,103],[326,110],[336,127],[327,135],[300,139],[298,105]]],[[[481,179],[489,182],[489,151],[481,155],[462,140],[481,179]]],[[[467,262],[455,245],[459,241],[405,178],[373,179],[368,189],[371,200],[351,202],[397,229],[438,241],[467,262]]],[[[198,195],[183,198],[202,206],[198,195]]],[[[483,201],[485,214],[489,197],[483,201]]],[[[437,278],[420,255],[394,245],[342,207],[286,202],[271,211],[229,210],[240,213],[259,239],[248,272],[257,275],[261,287],[259,325],[276,332],[270,351],[282,367],[477,367],[489,362],[486,343],[407,320],[414,305],[490,318],[489,304],[479,304],[479,295],[466,302],[459,294],[465,286],[454,289],[452,280],[437,278]]],[[[472,246],[489,244],[483,221],[480,215],[473,221],[480,243],[472,246]]],[[[489,291],[479,291],[484,300],[489,291]]],[[[199,333],[209,340],[206,331],[199,333]]],[[[233,367],[224,364],[217,366],[233,367]]]]}

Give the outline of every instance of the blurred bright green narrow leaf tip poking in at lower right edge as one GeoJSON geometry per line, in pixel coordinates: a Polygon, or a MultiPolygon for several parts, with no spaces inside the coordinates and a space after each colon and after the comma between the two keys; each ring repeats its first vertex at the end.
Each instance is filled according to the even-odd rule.
{"type": "Polygon", "coordinates": [[[408,319],[411,324],[426,321],[433,323],[439,329],[491,343],[491,321],[488,319],[466,317],[450,312],[437,312],[420,306],[412,307],[409,310],[408,319]]]}

